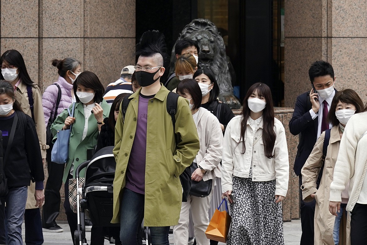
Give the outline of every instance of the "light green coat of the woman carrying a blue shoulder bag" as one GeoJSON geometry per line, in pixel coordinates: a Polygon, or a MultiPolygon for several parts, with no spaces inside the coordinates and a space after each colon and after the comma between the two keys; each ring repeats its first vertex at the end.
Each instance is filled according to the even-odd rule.
{"type": "MultiPolygon", "coordinates": [[[[110,105],[107,104],[105,100],[102,101],[101,107],[103,109],[103,118],[109,115],[110,113],[110,105]]],[[[70,105],[70,112],[72,111],[73,104],[70,105]]],[[[55,143],[57,138],[57,130],[61,130],[64,126],[65,119],[69,116],[68,109],[63,110],[55,122],[51,125],[51,133],[54,135],[54,139],[52,140],[55,143]]],[[[63,174],[62,181],[65,183],[68,174],[70,172],[70,167],[74,164],[74,170],[83,162],[87,161],[87,149],[93,149],[95,145],[97,145],[98,140],[98,125],[97,120],[95,119],[94,114],[91,114],[88,118],[88,131],[87,136],[84,140],[81,140],[83,136],[85,116],[84,116],[84,105],[81,102],[77,102],[75,104],[74,109],[74,117],[75,122],[73,123],[72,130],[70,133],[69,140],[69,159],[66,162],[65,170],[63,174]],[[74,162],[74,163],[73,163],[74,162]]],[[[80,172],[80,176],[84,177],[84,171],[80,172]]],[[[75,177],[75,171],[73,172],[73,177],[75,177]]]]}

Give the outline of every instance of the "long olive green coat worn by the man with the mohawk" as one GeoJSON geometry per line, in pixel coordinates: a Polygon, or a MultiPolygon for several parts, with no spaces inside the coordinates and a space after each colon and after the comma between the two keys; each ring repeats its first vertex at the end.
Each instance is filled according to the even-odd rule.
{"type": "MultiPolygon", "coordinates": [[[[116,122],[115,148],[113,149],[116,173],[113,181],[111,223],[120,222],[120,200],[126,183],[126,168],[137,127],[140,90],[129,97],[131,101],[126,110],[125,124],[121,107],[116,122]]],[[[168,90],[162,85],[155,97],[148,103],[145,226],[172,226],[178,223],[182,203],[182,186],[179,175],[190,166],[200,148],[199,137],[188,102],[185,98],[179,97],[175,114],[175,132],[180,140],[176,150],[172,119],[166,109],[167,94],[168,90]]]]}

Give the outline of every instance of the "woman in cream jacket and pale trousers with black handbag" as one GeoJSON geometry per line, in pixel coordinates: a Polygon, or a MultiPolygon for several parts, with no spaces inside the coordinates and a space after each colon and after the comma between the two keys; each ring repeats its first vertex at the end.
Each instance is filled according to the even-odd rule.
{"type": "Polygon", "coordinates": [[[197,245],[209,245],[205,231],[209,225],[208,210],[213,194],[215,178],[221,177],[223,134],[218,119],[201,106],[201,90],[193,79],[183,79],[177,86],[177,93],[189,101],[190,109],[199,135],[200,149],[194,159],[197,169],[192,173],[192,182],[212,180],[212,190],[207,197],[189,195],[187,202],[182,202],[178,224],[173,228],[175,245],[187,245],[189,238],[189,209],[192,212],[194,234],[197,245]]]}

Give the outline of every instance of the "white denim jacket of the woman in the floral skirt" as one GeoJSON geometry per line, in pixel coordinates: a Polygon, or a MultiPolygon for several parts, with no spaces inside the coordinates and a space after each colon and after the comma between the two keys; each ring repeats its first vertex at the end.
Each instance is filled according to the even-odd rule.
{"type": "Polygon", "coordinates": [[[269,159],[265,156],[262,140],[262,121],[253,133],[247,120],[244,139],[246,151],[244,154],[241,153],[243,152],[240,135],[242,118],[242,115],[232,118],[225,131],[222,154],[222,191],[233,190],[233,176],[248,178],[252,161],[252,181],[275,179],[275,195],[285,197],[288,190],[289,161],[286,133],[283,125],[278,119],[274,118],[276,136],[273,148],[274,158],[269,159]]]}

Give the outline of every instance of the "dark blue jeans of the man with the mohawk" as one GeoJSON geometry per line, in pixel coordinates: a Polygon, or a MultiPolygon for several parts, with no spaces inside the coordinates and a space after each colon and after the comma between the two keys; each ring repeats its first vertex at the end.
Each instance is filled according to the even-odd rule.
{"type": "MultiPolygon", "coordinates": [[[[144,195],[124,189],[121,205],[120,240],[123,245],[141,244],[140,229],[144,217],[144,195]]],[[[149,227],[152,245],[169,245],[169,226],[149,227]]]]}

